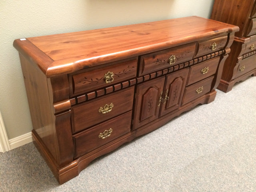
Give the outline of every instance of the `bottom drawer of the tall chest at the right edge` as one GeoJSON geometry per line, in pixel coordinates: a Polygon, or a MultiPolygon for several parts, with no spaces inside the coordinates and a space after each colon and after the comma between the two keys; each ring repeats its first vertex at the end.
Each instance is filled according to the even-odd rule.
{"type": "Polygon", "coordinates": [[[253,69],[256,69],[256,55],[250,56],[240,61],[236,77],[246,74],[253,69]]]}

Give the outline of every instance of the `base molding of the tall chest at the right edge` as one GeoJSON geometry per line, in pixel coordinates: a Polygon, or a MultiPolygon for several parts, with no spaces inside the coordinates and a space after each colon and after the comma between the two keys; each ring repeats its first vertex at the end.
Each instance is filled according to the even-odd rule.
{"type": "Polygon", "coordinates": [[[250,76],[256,76],[256,69],[252,70],[242,76],[239,76],[238,78],[235,78],[234,80],[231,80],[229,82],[221,79],[220,84],[218,85],[217,89],[227,93],[232,90],[234,84],[236,84],[240,81],[245,81],[250,76]]]}

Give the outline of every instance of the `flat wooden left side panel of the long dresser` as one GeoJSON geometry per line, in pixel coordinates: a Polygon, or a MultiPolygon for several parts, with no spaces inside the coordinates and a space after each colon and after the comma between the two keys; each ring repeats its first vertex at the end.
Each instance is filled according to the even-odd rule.
{"type": "Polygon", "coordinates": [[[56,137],[46,76],[22,54],[20,63],[26,87],[33,129],[56,160],[56,137]]]}

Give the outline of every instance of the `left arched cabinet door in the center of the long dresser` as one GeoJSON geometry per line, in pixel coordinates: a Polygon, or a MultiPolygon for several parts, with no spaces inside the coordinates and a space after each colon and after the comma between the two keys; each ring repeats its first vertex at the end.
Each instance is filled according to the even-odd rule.
{"type": "Polygon", "coordinates": [[[137,86],[133,129],[158,118],[162,104],[164,81],[165,76],[137,86]]]}

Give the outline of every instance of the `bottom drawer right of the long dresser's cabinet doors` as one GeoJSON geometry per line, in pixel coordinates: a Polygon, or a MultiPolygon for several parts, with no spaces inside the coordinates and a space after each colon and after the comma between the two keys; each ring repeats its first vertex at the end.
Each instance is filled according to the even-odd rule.
{"type": "Polygon", "coordinates": [[[210,92],[214,76],[204,79],[185,88],[182,105],[210,92]]]}

